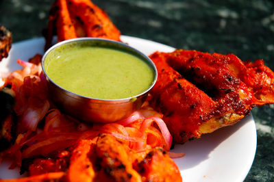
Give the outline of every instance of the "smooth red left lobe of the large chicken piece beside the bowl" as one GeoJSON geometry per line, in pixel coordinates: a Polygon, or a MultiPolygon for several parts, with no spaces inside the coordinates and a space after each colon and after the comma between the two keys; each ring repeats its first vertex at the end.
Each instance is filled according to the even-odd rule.
{"type": "Polygon", "coordinates": [[[158,70],[151,105],[164,114],[164,122],[175,142],[199,137],[200,116],[214,108],[214,101],[171,68],[164,53],[156,52],[150,57],[158,70]]]}

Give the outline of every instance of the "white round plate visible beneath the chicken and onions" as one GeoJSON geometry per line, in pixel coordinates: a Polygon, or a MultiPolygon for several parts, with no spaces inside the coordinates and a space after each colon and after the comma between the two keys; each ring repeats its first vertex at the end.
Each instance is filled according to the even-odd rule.
{"type": "MultiPolygon", "coordinates": [[[[123,42],[146,55],[155,51],[173,51],[173,47],[150,40],[122,36],[123,42]]],[[[17,59],[27,61],[36,53],[42,54],[44,38],[25,40],[12,45],[10,55],[0,63],[0,73],[21,68],[17,59]]],[[[195,181],[243,181],[249,172],[256,153],[256,127],[253,117],[247,116],[236,125],[219,129],[176,145],[173,152],[186,152],[186,156],[174,159],[184,182],[195,181]]],[[[0,178],[19,177],[18,172],[9,171],[7,164],[0,168],[0,178]]]]}

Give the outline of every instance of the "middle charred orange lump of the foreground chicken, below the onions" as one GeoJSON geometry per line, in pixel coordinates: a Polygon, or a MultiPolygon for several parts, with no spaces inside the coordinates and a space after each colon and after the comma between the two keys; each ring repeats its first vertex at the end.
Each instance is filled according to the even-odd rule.
{"type": "Polygon", "coordinates": [[[142,181],[133,169],[134,153],[111,135],[101,135],[95,146],[97,181],[142,181]]]}

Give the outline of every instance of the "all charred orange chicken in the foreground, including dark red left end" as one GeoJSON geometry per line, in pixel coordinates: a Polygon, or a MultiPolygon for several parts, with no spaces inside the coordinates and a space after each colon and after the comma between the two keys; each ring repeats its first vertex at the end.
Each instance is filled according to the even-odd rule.
{"type": "Polygon", "coordinates": [[[52,157],[27,159],[23,168],[31,176],[22,181],[182,181],[179,168],[163,148],[136,152],[110,134],[80,139],[52,157]]]}

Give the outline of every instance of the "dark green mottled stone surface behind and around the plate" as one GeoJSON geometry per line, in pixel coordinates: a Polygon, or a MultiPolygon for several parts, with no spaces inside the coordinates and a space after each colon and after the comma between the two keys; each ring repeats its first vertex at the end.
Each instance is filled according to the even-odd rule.
{"type": "MultiPolygon", "coordinates": [[[[127,36],[177,49],[234,53],[241,60],[263,59],[274,70],[274,1],[271,0],[108,0],[106,10],[127,36]]],[[[14,42],[41,36],[52,0],[1,0],[0,24],[14,42]]],[[[274,181],[274,106],[254,108],[258,146],[245,181],[274,181]]]]}

